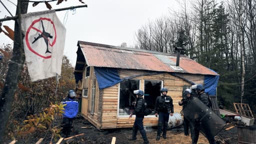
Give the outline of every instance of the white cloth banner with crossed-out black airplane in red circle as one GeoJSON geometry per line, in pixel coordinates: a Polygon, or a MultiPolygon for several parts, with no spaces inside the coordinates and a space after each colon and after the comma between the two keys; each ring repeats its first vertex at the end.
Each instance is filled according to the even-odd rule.
{"type": "Polygon", "coordinates": [[[21,30],[31,81],[60,75],[66,29],[55,11],[22,14],[21,30]]]}

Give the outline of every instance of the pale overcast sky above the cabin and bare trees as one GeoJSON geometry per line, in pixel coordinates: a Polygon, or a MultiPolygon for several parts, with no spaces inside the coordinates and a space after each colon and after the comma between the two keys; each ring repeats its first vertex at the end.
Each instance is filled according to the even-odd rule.
{"type": "MultiPolygon", "coordinates": [[[[15,15],[16,0],[1,0],[15,15]]],[[[134,46],[135,33],[148,21],[168,15],[170,10],[178,9],[179,0],[83,0],[88,7],[76,8],[75,11],[58,11],[57,16],[66,27],[66,40],[64,55],[75,65],[77,40],[96,42],[108,45],[120,45],[127,43],[127,47],[134,46]]],[[[180,0],[182,1],[182,0],[180,0]]],[[[50,2],[53,9],[82,5],[79,0],[63,1],[59,5],[50,2]]],[[[44,3],[35,7],[29,3],[28,12],[47,10],[44,3]]],[[[0,3],[0,18],[10,16],[0,3]]],[[[8,25],[14,29],[13,20],[3,21],[2,25],[8,25]]],[[[0,33],[0,46],[3,43],[11,43],[12,40],[0,33]]]]}

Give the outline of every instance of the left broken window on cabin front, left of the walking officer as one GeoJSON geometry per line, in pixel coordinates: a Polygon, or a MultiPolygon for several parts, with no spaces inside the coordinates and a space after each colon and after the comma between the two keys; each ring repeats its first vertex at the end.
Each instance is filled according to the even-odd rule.
{"type": "Polygon", "coordinates": [[[136,95],[133,90],[139,89],[139,80],[126,79],[120,82],[119,115],[128,115],[132,112],[136,95]]]}

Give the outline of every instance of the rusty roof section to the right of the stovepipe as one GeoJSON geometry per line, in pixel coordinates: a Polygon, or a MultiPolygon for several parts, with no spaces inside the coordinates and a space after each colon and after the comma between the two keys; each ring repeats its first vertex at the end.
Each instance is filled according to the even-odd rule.
{"type": "MultiPolygon", "coordinates": [[[[170,58],[170,59],[176,62],[176,58],[170,58]]],[[[209,68],[187,57],[180,57],[179,66],[182,69],[184,69],[184,72],[187,72],[187,73],[218,75],[217,73],[211,71],[209,68]]]]}

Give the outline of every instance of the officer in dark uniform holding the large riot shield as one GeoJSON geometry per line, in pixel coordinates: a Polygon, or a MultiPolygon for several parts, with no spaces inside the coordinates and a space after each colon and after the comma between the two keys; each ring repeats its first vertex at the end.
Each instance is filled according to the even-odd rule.
{"type": "MultiPolygon", "coordinates": [[[[208,94],[204,92],[204,87],[201,84],[197,84],[197,96],[198,98],[208,107],[211,107],[211,103],[208,98],[208,94]]],[[[200,121],[197,121],[193,124],[191,124],[191,138],[192,138],[192,144],[196,144],[199,136],[199,131],[202,128],[202,125],[200,124],[200,121]]],[[[214,136],[212,135],[206,135],[206,138],[208,139],[210,144],[216,144],[214,136]]]]}

